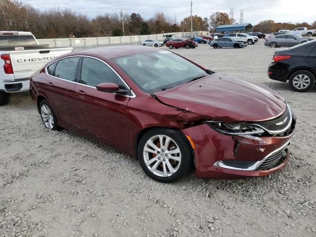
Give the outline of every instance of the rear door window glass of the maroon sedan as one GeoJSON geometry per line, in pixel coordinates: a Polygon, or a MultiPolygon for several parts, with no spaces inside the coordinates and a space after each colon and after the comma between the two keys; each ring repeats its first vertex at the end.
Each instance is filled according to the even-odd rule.
{"type": "Polygon", "coordinates": [[[79,57],[59,60],[55,68],[55,77],[75,81],[79,57]]]}

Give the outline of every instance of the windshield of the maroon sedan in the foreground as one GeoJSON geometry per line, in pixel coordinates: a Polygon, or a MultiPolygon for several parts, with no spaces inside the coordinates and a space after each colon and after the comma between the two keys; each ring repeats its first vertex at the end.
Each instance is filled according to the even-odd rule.
{"type": "Polygon", "coordinates": [[[137,53],[112,60],[142,91],[151,95],[209,75],[167,50],[137,53]]]}

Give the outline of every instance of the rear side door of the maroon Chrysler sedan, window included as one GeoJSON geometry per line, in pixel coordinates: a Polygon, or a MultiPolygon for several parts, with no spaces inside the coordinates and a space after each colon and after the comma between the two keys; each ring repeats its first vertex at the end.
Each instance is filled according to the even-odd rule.
{"type": "Polygon", "coordinates": [[[78,65],[78,56],[61,59],[46,68],[43,79],[45,95],[57,119],[76,128],[80,128],[74,96],[78,65]]]}

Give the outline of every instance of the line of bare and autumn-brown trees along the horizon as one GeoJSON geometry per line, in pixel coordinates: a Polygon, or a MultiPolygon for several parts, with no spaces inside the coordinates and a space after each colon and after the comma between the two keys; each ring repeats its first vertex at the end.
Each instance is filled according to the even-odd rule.
{"type": "MultiPolygon", "coordinates": [[[[209,18],[194,15],[194,31],[214,32],[219,25],[235,24],[234,19],[224,12],[214,12],[209,18]]],[[[292,30],[296,27],[316,27],[316,21],[308,23],[275,23],[262,21],[254,26],[254,31],[271,33],[280,29],[292,30]]],[[[108,37],[150,35],[168,32],[190,32],[191,17],[181,22],[156,12],[150,19],[139,13],[105,13],[93,18],[71,9],[54,8],[39,10],[18,0],[0,0],[0,31],[30,31],[37,38],[108,37]],[[124,24],[124,32],[122,28],[124,24]]]]}

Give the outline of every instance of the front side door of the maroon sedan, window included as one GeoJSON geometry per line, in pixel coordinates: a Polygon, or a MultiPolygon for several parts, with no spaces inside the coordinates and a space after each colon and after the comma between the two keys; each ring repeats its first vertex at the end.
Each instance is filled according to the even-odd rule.
{"type": "Polygon", "coordinates": [[[128,147],[127,102],[130,97],[111,92],[102,92],[96,85],[113,82],[120,88],[127,84],[104,61],[82,57],[79,68],[79,83],[74,93],[82,130],[110,144],[128,147]]]}

